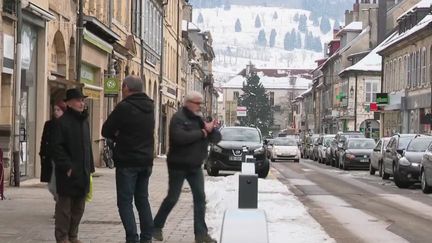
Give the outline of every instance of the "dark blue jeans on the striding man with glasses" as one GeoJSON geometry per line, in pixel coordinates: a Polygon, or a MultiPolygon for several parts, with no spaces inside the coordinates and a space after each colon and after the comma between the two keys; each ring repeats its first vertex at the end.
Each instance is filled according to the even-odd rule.
{"type": "Polygon", "coordinates": [[[168,169],[169,188],[168,195],[162,202],[154,219],[155,228],[163,228],[169,213],[177,203],[186,179],[191,187],[194,202],[194,232],[195,235],[206,235],[208,233],[205,223],[205,191],[204,175],[201,168],[194,170],[172,170],[168,169]]]}

